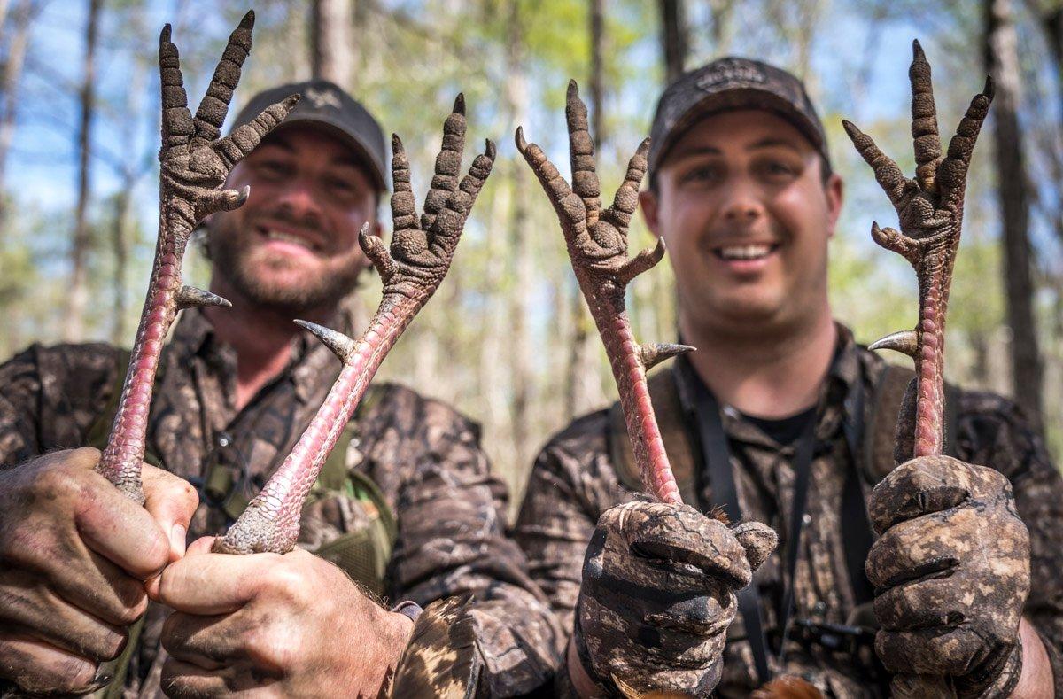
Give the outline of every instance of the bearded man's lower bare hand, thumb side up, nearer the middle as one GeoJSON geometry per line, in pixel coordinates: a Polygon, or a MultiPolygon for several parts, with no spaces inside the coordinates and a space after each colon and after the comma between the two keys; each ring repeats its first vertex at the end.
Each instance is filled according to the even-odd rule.
{"type": "Polygon", "coordinates": [[[283,556],[212,553],[213,538],[163,572],[159,601],[171,697],[370,696],[390,680],[412,621],[371,600],[335,565],[283,556]]]}

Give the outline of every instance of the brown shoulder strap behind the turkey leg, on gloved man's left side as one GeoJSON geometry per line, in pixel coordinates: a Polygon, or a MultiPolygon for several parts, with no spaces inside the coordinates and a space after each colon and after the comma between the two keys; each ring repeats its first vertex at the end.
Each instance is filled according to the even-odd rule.
{"type": "MultiPolygon", "coordinates": [[[[679,494],[682,495],[684,502],[695,505],[698,496],[694,451],[675,381],[675,370],[671,366],[654,372],[648,380],[649,399],[664,441],[664,451],[668,454],[672,473],[679,487],[679,494]]],[[[638,464],[635,463],[631,440],[628,439],[627,423],[624,421],[624,409],[619,400],[609,407],[606,429],[609,458],[617,470],[620,483],[627,490],[642,491],[642,475],[639,473],[638,464]]]]}

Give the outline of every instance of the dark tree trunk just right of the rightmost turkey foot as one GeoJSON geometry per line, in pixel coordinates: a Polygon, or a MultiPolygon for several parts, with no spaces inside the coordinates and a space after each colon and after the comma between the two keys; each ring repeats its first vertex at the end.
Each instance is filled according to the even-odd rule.
{"type": "Polygon", "coordinates": [[[1040,427],[1042,369],[1037,351],[1030,270],[1030,193],[1018,123],[1018,36],[1010,0],[985,0],[985,65],[996,82],[993,104],[997,193],[1000,199],[1005,252],[1005,288],[1011,326],[1013,393],[1040,427]]]}

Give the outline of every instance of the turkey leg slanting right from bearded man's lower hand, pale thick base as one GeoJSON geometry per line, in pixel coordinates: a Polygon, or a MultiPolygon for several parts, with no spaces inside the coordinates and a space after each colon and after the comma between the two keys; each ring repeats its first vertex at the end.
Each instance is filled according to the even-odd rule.
{"type": "Polygon", "coordinates": [[[215,541],[215,552],[286,553],[294,547],[303,500],[384,357],[446,275],[469,210],[491,172],[494,143],[488,140],[486,152],[476,156],[469,174],[458,183],[465,133],[465,98],[458,95],[454,113],[443,123],[443,144],[420,225],[406,151],[399,137],[392,135],[391,250],[388,252],[378,237],[368,233],[368,225],[358,237],[384,280],[384,297],[357,341],[320,325],[296,321],[335,352],[343,369],[291,454],[229,532],[215,541]]]}

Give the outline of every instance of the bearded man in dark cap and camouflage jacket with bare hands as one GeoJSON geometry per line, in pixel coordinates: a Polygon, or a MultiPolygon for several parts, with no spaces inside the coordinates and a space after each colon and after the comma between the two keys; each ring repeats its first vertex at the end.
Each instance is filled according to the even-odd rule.
{"type": "Polygon", "coordinates": [[[225,184],[250,186],[248,201],[205,223],[210,289],[233,307],[185,310],[165,350],[148,432],[165,471],[145,466],[145,508],[92,472],[128,353],[34,345],[0,366],[0,678],[23,689],[375,696],[405,649],[421,679],[479,674],[505,695],[556,665],[556,626],[503,536],[505,489],[478,427],[398,386],[367,393],[299,548],[185,556],[239,515],[339,373],[292,320],[356,334],[342,301],[368,267],[359,228],[381,231],[384,136],[322,81],[258,95],[234,127],[296,92],[225,184]],[[179,613],[167,621],[152,602],[137,623],[146,586],[179,613]]]}

